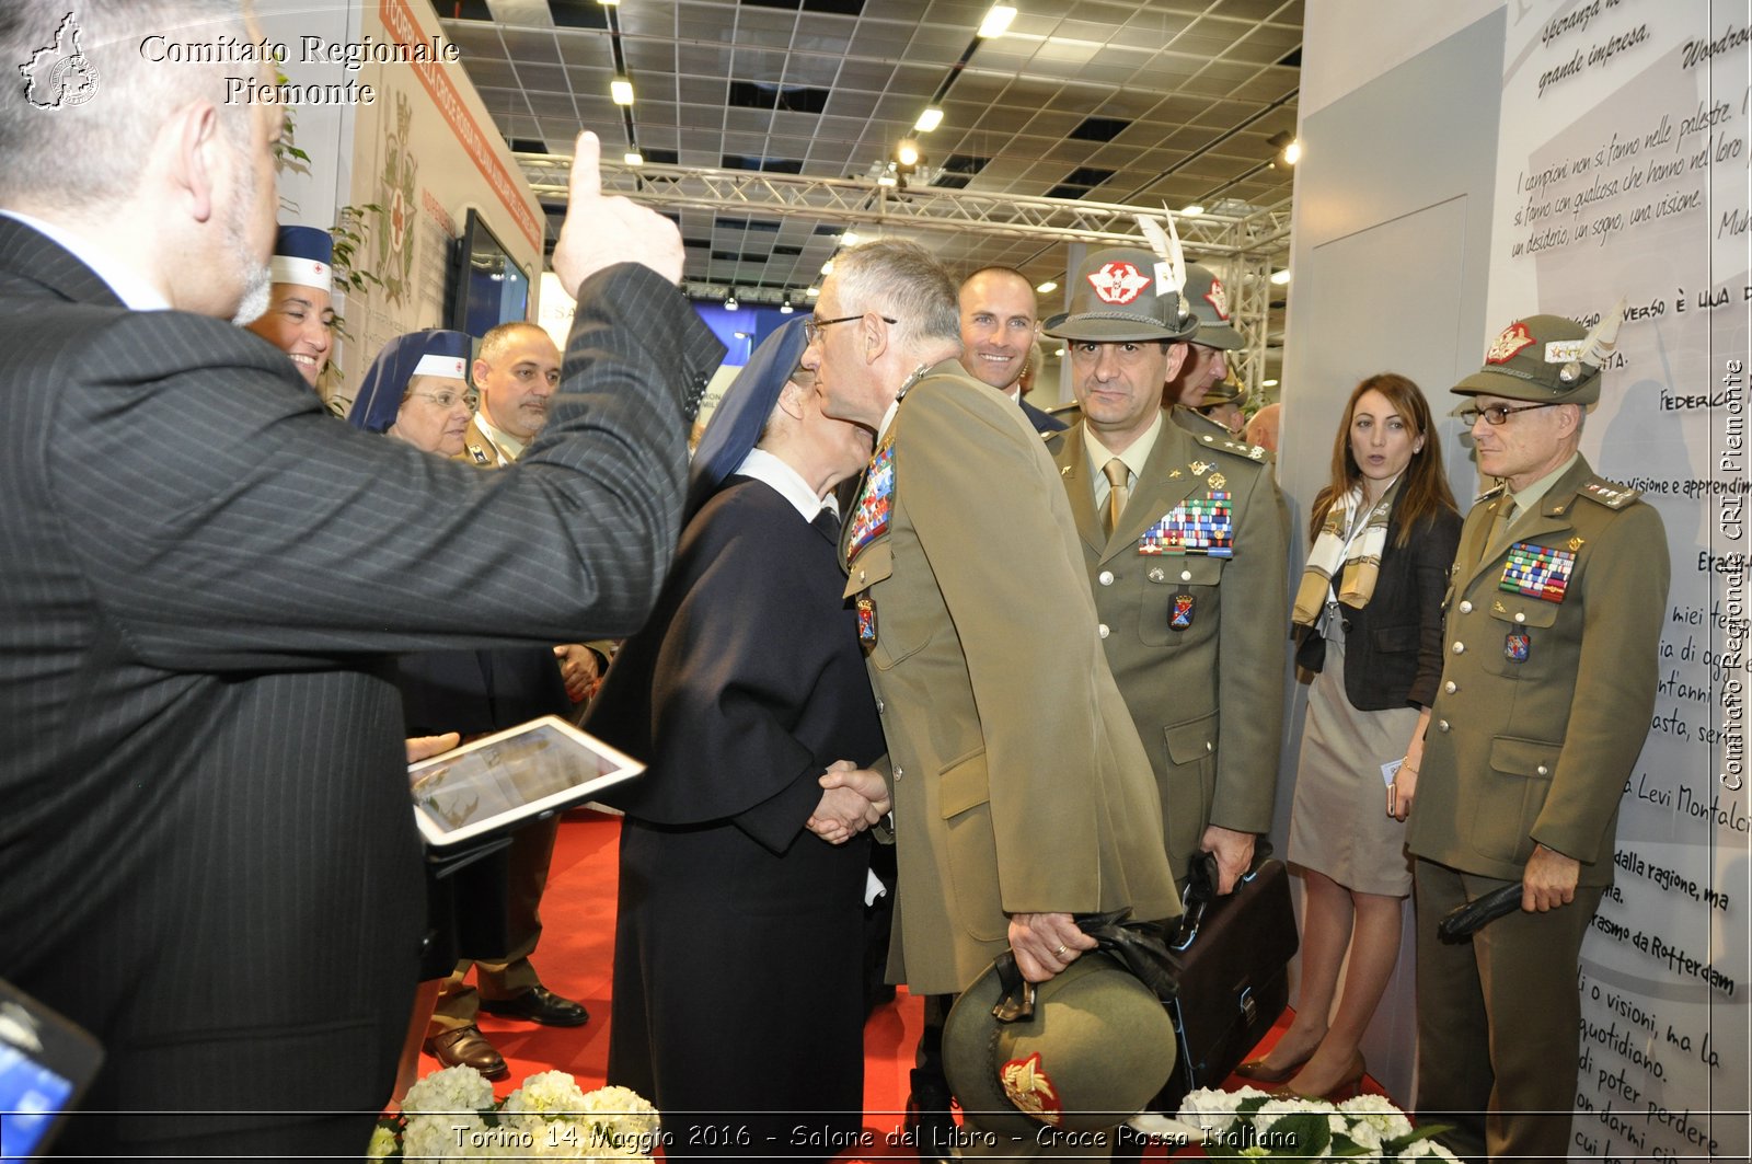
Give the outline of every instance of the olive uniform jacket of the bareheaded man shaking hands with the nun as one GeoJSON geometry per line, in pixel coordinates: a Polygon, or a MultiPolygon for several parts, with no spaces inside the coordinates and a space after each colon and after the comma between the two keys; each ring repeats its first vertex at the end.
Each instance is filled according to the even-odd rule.
{"type": "Polygon", "coordinates": [[[953,359],[904,394],[888,435],[887,529],[853,547],[846,582],[874,607],[894,777],[888,978],[953,994],[1007,948],[1009,913],[1149,920],[1179,898],[1039,435],[953,359]]]}

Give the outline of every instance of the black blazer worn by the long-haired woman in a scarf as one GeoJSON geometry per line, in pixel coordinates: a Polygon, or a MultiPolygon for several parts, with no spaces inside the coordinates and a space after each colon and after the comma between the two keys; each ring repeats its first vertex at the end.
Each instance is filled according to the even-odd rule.
{"type": "MultiPolygon", "coordinates": [[[[1430,706],[1442,680],[1442,593],[1459,545],[1459,514],[1444,510],[1398,545],[1400,501],[1388,517],[1375,593],[1360,608],[1344,607],[1344,696],[1358,712],[1430,706]]],[[[1321,670],[1326,640],[1298,631],[1296,663],[1321,670]]]]}

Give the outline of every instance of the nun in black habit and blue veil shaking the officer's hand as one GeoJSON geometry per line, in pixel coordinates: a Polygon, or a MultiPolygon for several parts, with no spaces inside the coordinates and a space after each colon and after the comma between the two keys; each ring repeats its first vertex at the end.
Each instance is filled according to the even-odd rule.
{"type": "Polygon", "coordinates": [[[825,1160],[862,1125],[864,829],[888,792],[832,487],[872,435],[822,414],[802,349],[787,323],[713,414],[675,568],[585,722],[648,764],[611,798],[608,1082],[657,1104],[669,1157],[825,1160]]]}

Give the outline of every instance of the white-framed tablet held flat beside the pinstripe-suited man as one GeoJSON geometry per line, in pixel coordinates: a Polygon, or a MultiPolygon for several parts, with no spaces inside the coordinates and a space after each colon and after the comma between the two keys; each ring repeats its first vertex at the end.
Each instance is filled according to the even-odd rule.
{"type": "Polygon", "coordinates": [[[645,771],[559,715],[408,764],[413,819],[433,850],[510,833],[645,771]]]}

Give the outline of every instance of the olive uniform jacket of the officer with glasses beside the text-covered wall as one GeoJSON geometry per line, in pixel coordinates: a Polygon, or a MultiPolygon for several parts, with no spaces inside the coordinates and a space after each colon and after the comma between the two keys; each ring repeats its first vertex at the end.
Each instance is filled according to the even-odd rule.
{"type": "Polygon", "coordinates": [[[1538,512],[1487,547],[1507,496],[1480,498],[1459,535],[1407,845],[1521,880],[1544,843],[1582,862],[1582,885],[1608,885],[1619,798],[1654,712],[1666,531],[1636,491],[1577,458],[1538,512]],[[1573,554],[1561,596],[1500,587],[1519,543],[1573,554]]]}

